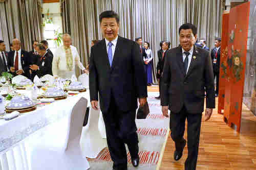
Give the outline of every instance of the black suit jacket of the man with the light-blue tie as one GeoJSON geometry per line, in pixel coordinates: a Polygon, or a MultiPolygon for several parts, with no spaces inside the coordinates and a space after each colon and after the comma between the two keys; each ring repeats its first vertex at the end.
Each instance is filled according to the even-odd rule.
{"type": "Polygon", "coordinates": [[[98,101],[100,109],[107,112],[111,95],[119,110],[130,111],[138,107],[137,98],[147,97],[147,82],[139,45],[118,36],[112,67],[106,52],[105,39],[91,48],[90,98],[98,101]]]}

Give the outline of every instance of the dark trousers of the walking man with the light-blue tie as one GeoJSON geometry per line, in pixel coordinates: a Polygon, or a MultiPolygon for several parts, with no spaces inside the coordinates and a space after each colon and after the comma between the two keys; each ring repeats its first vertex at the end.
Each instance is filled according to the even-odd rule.
{"type": "Polygon", "coordinates": [[[121,111],[111,95],[110,107],[103,113],[106,128],[106,140],[111,159],[116,169],[127,168],[127,155],[124,143],[130,151],[132,159],[138,157],[138,134],[135,123],[136,110],[121,111]]]}

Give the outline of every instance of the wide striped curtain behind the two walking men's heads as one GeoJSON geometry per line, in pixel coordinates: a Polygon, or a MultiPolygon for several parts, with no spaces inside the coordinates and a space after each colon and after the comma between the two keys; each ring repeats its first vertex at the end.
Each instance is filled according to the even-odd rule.
{"type": "Polygon", "coordinates": [[[221,0],[87,0],[62,2],[63,28],[70,32],[79,48],[81,61],[88,64],[92,39],[102,39],[99,14],[114,10],[120,16],[119,35],[148,41],[154,55],[153,82],[156,80],[157,51],[162,40],[171,47],[179,45],[179,27],[191,22],[198,28],[198,38],[206,38],[207,46],[221,36],[221,0]],[[75,14],[74,14],[75,13],[75,14]]]}

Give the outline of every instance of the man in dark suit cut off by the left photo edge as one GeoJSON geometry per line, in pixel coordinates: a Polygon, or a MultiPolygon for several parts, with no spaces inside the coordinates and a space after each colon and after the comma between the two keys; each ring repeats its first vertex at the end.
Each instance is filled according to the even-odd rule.
{"type": "Polygon", "coordinates": [[[8,54],[6,53],[6,46],[3,40],[0,40],[0,76],[2,72],[9,71],[8,68],[8,54]]]}

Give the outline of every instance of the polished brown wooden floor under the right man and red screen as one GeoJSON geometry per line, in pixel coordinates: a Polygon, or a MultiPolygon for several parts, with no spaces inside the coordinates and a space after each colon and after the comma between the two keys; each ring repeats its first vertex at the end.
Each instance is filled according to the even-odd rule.
{"type": "MultiPolygon", "coordinates": [[[[148,91],[157,91],[157,86],[148,87],[148,91]]],[[[217,113],[217,108],[210,120],[202,122],[197,170],[256,169],[256,116],[245,105],[241,122],[241,131],[238,133],[223,122],[223,116],[217,113]]],[[[160,170],[184,169],[187,147],[179,161],[173,159],[174,151],[174,142],[169,136],[160,170]]]]}

